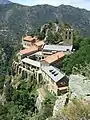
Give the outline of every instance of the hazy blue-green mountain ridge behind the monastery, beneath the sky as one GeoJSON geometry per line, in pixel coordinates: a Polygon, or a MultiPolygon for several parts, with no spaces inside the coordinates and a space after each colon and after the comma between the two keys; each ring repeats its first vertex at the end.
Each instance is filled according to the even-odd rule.
{"type": "Polygon", "coordinates": [[[50,5],[24,6],[16,3],[0,5],[0,38],[7,34],[10,38],[21,39],[33,33],[43,24],[55,22],[69,23],[83,36],[90,36],[90,11],[69,5],[54,7],[50,5]],[[1,30],[7,30],[2,32],[1,30]]]}

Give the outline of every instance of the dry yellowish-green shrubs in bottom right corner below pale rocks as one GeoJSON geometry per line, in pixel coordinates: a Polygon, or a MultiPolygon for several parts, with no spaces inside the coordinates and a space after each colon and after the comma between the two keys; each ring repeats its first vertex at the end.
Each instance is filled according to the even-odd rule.
{"type": "Polygon", "coordinates": [[[89,120],[90,105],[79,99],[73,99],[57,116],[48,120],[89,120]]]}

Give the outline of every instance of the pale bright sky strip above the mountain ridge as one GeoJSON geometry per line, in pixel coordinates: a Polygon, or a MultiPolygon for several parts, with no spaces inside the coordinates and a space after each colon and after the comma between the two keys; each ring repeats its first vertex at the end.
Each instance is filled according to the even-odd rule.
{"type": "Polygon", "coordinates": [[[90,10],[90,0],[11,0],[11,1],[28,6],[37,4],[49,4],[53,6],[59,6],[61,4],[64,4],[90,10]]]}

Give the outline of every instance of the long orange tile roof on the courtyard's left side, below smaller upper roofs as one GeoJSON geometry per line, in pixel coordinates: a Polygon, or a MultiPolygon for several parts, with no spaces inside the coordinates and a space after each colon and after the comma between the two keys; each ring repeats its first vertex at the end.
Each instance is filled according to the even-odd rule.
{"type": "Polygon", "coordinates": [[[25,54],[32,54],[32,53],[37,52],[37,51],[38,51],[38,47],[37,46],[31,46],[28,49],[20,50],[19,53],[22,54],[22,55],[25,55],[25,54]]]}

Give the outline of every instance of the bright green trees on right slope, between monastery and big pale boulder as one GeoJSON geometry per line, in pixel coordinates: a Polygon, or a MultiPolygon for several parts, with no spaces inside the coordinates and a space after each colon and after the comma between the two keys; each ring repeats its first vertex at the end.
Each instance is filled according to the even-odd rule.
{"type": "Polygon", "coordinates": [[[88,64],[90,62],[89,51],[90,51],[90,39],[84,38],[80,43],[79,50],[77,50],[75,53],[71,55],[66,56],[66,58],[63,61],[62,70],[66,72],[66,74],[68,75],[74,71],[76,73],[77,71],[77,73],[81,73],[83,75],[85,74],[85,76],[87,76],[87,73],[89,73],[88,64]]]}

